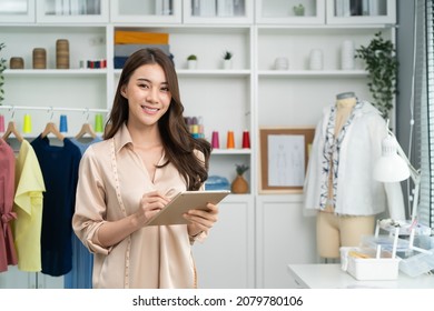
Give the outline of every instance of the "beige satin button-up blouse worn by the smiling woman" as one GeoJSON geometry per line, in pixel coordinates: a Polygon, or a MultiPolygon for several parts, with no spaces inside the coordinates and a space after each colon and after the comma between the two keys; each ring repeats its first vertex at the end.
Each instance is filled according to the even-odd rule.
{"type": "MultiPolygon", "coordinates": [[[[164,156],[159,163],[164,163],[164,156]]],[[[196,287],[196,268],[185,224],[146,227],[111,248],[95,242],[103,222],[136,212],[142,194],[152,190],[172,198],[186,190],[186,184],[172,164],[157,169],[152,182],[134,151],[126,126],[112,139],[93,143],[85,152],[72,227],[95,253],[93,288],[196,287]]]]}

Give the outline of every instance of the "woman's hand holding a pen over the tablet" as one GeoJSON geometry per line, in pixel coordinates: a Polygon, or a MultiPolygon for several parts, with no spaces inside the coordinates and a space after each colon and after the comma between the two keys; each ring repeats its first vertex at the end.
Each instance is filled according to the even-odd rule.
{"type": "Polygon", "coordinates": [[[170,199],[159,191],[145,193],[140,200],[140,208],[136,212],[138,225],[145,225],[145,223],[166,207],[170,199]]]}

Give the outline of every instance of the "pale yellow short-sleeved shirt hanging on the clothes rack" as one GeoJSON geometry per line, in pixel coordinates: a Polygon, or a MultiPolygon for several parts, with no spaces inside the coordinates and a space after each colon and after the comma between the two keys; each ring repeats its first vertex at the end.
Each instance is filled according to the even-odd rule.
{"type": "Polygon", "coordinates": [[[41,271],[42,201],[46,191],[38,158],[30,142],[23,140],[16,161],[13,237],[18,269],[41,271]]]}

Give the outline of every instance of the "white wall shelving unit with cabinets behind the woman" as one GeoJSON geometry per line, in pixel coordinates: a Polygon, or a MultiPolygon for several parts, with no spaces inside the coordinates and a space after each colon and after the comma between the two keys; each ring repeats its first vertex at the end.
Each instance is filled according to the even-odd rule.
{"type": "MultiPolygon", "coordinates": [[[[303,1],[304,16],[294,14],[292,8],[300,2],[296,0],[217,0],[220,14],[217,9],[214,14],[198,10],[213,2],[207,1],[87,0],[100,4],[98,14],[63,16],[49,13],[55,2],[50,0],[17,1],[26,9],[20,7],[16,14],[4,10],[4,3],[16,1],[0,0],[0,40],[7,44],[0,57],[24,60],[23,70],[4,71],[3,104],[109,110],[120,76],[114,68],[115,32],[168,33],[185,116],[203,117],[209,140],[213,131],[219,132],[220,149],[213,151],[210,175],[231,181],[236,163],[250,167],[245,173],[249,192],[229,195],[213,237],[195,245],[201,287],[289,287],[288,263],[317,261],[315,224],[303,217],[302,193],[259,194],[259,129],[315,127],[323,108],[339,92],[354,91],[369,100],[363,63],[356,61],[354,70],[342,70],[341,46],[345,40],[353,40],[356,48],[368,44],[378,31],[394,41],[395,1],[377,0],[386,8],[379,17],[345,18],[336,16],[342,2],[337,0],[303,1]],[[225,7],[228,3],[233,8],[225,7]],[[161,11],[167,6],[170,11],[161,11]],[[225,13],[221,8],[226,8],[225,13]],[[56,69],[57,39],[69,40],[69,70],[56,69]],[[33,48],[47,50],[46,70],[32,69],[33,48]],[[313,49],[323,52],[322,70],[308,67],[313,49]],[[231,69],[223,69],[225,50],[234,53],[231,69]],[[191,53],[198,57],[195,70],[187,69],[186,59],[191,53]],[[288,70],[275,70],[279,57],[288,59],[288,70]],[[80,61],[87,59],[106,59],[107,68],[80,69],[80,61]],[[235,133],[235,149],[226,149],[229,130],[235,133]],[[240,148],[244,130],[250,132],[248,150],[240,148]],[[279,233],[280,228],[285,233],[279,233]],[[210,260],[214,252],[217,265],[210,260]],[[221,253],[231,255],[218,255],[221,253]],[[279,267],[279,262],[285,264],[279,267]]],[[[12,111],[0,108],[0,113],[8,121],[12,111]]],[[[49,118],[58,121],[61,111],[30,113],[33,131],[29,138],[39,134],[49,118]]],[[[13,111],[13,118],[21,128],[23,111],[13,111]]],[[[83,120],[83,113],[68,113],[70,131],[78,132],[83,120]]],[[[0,287],[8,287],[1,280],[0,274],[0,287]]]]}

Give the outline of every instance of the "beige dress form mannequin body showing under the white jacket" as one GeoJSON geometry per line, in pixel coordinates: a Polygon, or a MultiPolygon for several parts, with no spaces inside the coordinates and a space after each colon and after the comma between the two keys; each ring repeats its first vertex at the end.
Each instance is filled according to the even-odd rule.
{"type": "MultiPolygon", "coordinates": [[[[344,124],[348,120],[357,98],[354,92],[339,93],[336,96],[335,138],[338,137],[344,124]]],[[[333,161],[331,161],[333,168],[333,161]]],[[[333,169],[328,174],[328,184],[333,184],[333,169]]],[[[328,202],[332,202],[333,187],[328,188],[328,202]]],[[[333,203],[318,212],[316,221],[317,250],[325,259],[339,258],[341,247],[356,247],[361,237],[372,234],[375,225],[374,215],[341,215],[335,213],[333,203]]]]}

